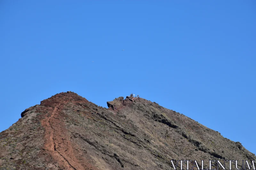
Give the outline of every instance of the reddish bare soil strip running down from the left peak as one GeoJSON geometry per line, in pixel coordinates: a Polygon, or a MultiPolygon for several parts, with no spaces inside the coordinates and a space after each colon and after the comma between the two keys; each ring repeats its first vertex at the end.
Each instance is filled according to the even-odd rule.
{"type": "MultiPolygon", "coordinates": [[[[58,95],[63,95],[60,93],[58,95]]],[[[74,151],[76,144],[70,141],[71,134],[68,133],[63,117],[61,116],[61,110],[68,103],[67,100],[59,100],[59,96],[56,95],[58,102],[46,101],[43,105],[52,107],[52,110],[48,110],[49,115],[45,116],[45,119],[41,120],[42,126],[45,128],[44,136],[44,150],[46,153],[50,154],[52,158],[59,164],[60,168],[66,168],[68,170],[96,170],[88,160],[84,157],[79,156],[77,151],[74,151]],[[80,163],[81,162],[81,163],[80,163]],[[85,164],[86,163],[86,164],[85,164]]],[[[86,99],[81,101],[75,101],[76,103],[88,102],[86,99]]]]}

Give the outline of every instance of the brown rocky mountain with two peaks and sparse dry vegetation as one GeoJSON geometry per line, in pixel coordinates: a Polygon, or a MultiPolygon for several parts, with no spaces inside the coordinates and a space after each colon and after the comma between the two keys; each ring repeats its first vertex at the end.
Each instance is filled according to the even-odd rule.
{"type": "Polygon", "coordinates": [[[256,160],[241,143],[155,102],[119,97],[107,104],[62,92],[26,109],[0,133],[0,170],[170,170],[170,160],[199,167],[209,159],[256,160]]]}

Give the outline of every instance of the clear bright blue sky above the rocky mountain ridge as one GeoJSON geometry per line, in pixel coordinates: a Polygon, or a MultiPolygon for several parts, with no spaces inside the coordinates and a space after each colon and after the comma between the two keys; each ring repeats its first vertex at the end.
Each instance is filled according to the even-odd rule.
{"type": "Polygon", "coordinates": [[[60,92],[103,107],[133,93],[256,154],[255,9],[250,0],[1,0],[0,132],[60,92]]]}

